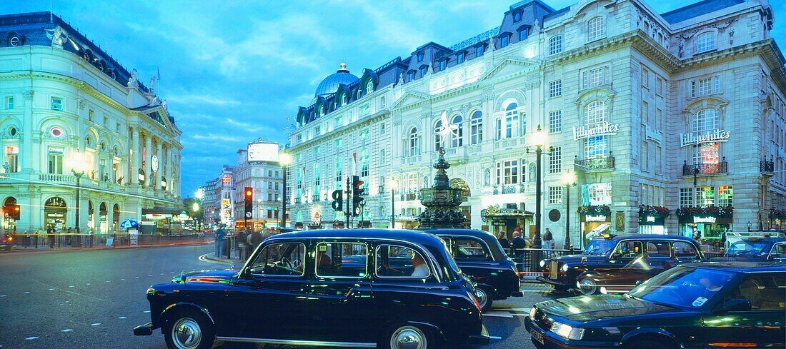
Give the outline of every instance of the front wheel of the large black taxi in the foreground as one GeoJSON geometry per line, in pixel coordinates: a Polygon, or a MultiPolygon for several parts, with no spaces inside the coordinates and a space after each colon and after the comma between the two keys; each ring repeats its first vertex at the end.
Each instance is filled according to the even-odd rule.
{"type": "Polygon", "coordinates": [[[169,349],[209,349],[215,340],[210,319],[191,309],[174,314],[167,321],[163,334],[169,349]]]}

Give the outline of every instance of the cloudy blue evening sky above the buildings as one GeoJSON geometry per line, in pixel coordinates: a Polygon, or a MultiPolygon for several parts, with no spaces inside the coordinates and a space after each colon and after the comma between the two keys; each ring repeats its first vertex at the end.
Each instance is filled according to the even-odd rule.
{"type": "MultiPolygon", "coordinates": [[[[659,13],[696,1],[645,0],[659,13]]],[[[426,42],[453,45],[497,27],[516,0],[64,1],[70,22],[156,92],[182,129],[182,193],[215,178],[259,137],[286,141],[287,118],[310,103],[340,62],[359,75],[426,42]]],[[[561,9],[577,0],[544,0],[561,9]]],[[[771,1],[786,48],[786,2],[771,1]]],[[[46,11],[50,0],[3,2],[0,14],[46,11]]]]}

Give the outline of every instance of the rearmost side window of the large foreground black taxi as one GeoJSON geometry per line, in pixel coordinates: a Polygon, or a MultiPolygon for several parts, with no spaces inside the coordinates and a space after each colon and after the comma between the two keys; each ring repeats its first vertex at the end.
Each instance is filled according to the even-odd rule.
{"type": "Polygon", "coordinates": [[[432,274],[421,253],[398,245],[376,246],[374,268],[379,278],[428,278],[432,274]]]}

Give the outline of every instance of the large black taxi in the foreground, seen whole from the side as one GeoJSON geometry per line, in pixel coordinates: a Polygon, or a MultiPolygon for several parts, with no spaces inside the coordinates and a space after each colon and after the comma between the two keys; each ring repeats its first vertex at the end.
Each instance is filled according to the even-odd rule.
{"type": "Polygon", "coordinates": [[[320,347],[487,344],[475,289],[433,234],[320,230],[267,238],[240,270],[182,274],[147,291],[170,348],[214,340],[320,347]],[[403,260],[406,258],[406,262],[403,260]]]}

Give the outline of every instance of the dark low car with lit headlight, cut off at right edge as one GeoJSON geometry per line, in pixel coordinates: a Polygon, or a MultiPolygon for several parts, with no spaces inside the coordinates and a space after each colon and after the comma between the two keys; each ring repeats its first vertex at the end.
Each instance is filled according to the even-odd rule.
{"type": "Polygon", "coordinates": [[[784,264],[683,264],[624,295],[535,304],[524,325],[538,348],[784,347],[784,288],[784,264]]]}

